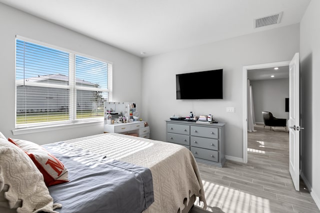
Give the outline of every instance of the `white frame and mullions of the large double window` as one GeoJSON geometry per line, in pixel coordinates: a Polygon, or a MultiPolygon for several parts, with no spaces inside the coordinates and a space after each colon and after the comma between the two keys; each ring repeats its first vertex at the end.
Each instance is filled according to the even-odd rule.
{"type": "MultiPolygon", "coordinates": [[[[112,62],[107,61],[105,59],[93,57],[90,55],[86,55],[83,53],[79,53],[76,51],[72,51],[66,48],[54,46],[48,43],[44,43],[41,41],[33,40],[30,38],[26,38],[23,36],[15,36],[15,70],[14,70],[14,94],[15,94],[15,104],[14,104],[14,124],[15,124],[15,130],[12,130],[13,135],[18,134],[25,134],[28,132],[42,132],[47,131],[47,129],[63,129],[65,127],[71,127],[74,124],[85,124],[85,125],[92,125],[92,124],[100,124],[103,123],[103,116],[95,117],[95,118],[76,118],[76,91],[77,90],[86,90],[86,91],[101,91],[101,92],[107,92],[108,93],[108,100],[112,101],[112,62]],[[57,49],[60,51],[64,51],[69,53],[69,70],[68,70],[68,78],[69,78],[69,84],[68,85],[61,85],[61,84],[47,84],[47,83],[41,83],[41,82],[24,82],[19,83],[16,80],[16,48],[17,48],[17,41],[16,40],[22,40],[25,42],[34,43],[37,45],[45,46],[52,49],[57,49]],[[75,57],[76,56],[82,56],[89,59],[101,61],[108,64],[107,69],[107,87],[106,89],[103,88],[90,88],[85,86],[80,86],[75,84],[75,57]],[[61,88],[61,89],[69,89],[69,119],[68,120],[60,120],[60,121],[45,121],[45,122],[36,122],[36,123],[25,123],[25,124],[17,124],[17,86],[18,85],[26,85],[26,86],[37,86],[37,87],[51,87],[51,88],[61,88]],[[42,129],[42,130],[41,130],[42,129]]],[[[22,81],[21,81],[22,82],[22,81]]]]}

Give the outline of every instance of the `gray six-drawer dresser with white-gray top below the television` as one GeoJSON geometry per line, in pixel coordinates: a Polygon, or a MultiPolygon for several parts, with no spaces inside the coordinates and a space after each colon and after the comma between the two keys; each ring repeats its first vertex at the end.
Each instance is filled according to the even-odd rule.
{"type": "Polygon", "coordinates": [[[192,121],[166,122],[166,141],[189,149],[196,161],[222,167],[224,123],[201,124],[192,121]]]}

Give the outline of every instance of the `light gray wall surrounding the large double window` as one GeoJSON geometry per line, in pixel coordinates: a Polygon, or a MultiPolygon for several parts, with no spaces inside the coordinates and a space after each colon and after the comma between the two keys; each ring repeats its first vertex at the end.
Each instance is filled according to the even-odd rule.
{"type": "MultiPolygon", "coordinates": [[[[141,106],[141,58],[0,3],[0,132],[38,144],[103,133],[103,125],[13,136],[15,116],[15,35],[113,62],[113,101],[141,106]]],[[[142,112],[142,111],[141,111],[142,112]]]]}

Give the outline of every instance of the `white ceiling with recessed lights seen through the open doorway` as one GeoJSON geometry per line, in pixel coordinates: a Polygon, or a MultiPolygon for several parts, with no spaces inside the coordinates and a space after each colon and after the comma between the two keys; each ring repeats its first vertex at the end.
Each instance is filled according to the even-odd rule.
{"type": "Polygon", "coordinates": [[[275,70],[274,67],[250,69],[248,70],[247,77],[251,81],[289,78],[289,66],[280,66],[277,70],[275,70]],[[273,75],[274,77],[271,77],[271,75],[273,75]]]}

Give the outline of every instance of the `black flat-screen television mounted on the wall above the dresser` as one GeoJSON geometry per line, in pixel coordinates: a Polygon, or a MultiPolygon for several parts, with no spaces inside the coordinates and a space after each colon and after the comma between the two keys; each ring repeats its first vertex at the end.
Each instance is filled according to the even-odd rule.
{"type": "Polygon", "coordinates": [[[222,99],[222,69],[177,74],[176,99],[222,99]]]}

